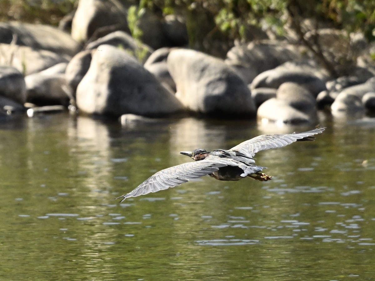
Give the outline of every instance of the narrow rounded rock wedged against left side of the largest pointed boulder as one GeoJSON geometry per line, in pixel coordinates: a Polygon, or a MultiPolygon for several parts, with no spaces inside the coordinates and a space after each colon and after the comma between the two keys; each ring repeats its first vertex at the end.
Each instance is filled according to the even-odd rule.
{"type": "Polygon", "coordinates": [[[75,55],[71,61],[69,61],[68,66],[65,70],[65,79],[67,85],[72,90],[75,96],[75,91],[77,90],[78,84],[80,84],[83,76],[86,75],[87,70],[89,70],[92,50],[84,50],[75,55]]]}

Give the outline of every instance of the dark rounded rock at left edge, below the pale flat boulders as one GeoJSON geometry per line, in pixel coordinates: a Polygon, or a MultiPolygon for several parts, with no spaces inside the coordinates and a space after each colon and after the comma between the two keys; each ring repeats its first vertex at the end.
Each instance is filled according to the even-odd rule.
{"type": "Polygon", "coordinates": [[[0,66],[0,96],[23,104],[26,102],[25,79],[11,66],[0,66]]]}

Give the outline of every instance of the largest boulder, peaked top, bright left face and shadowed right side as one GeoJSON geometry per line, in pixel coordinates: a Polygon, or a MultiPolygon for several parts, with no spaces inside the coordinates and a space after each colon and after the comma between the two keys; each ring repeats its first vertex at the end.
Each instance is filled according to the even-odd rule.
{"type": "Polygon", "coordinates": [[[184,110],[135,58],[110,45],[93,51],[76,98],[79,110],[87,114],[160,116],[184,110]]]}

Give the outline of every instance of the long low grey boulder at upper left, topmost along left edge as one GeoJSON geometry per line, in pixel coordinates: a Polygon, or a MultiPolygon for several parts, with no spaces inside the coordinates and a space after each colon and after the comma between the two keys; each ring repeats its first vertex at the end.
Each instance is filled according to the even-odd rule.
{"type": "Polygon", "coordinates": [[[0,43],[48,50],[60,55],[74,56],[80,45],[72,36],[51,25],[24,22],[0,22],[0,43]],[[13,38],[15,40],[13,40],[13,38]]]}

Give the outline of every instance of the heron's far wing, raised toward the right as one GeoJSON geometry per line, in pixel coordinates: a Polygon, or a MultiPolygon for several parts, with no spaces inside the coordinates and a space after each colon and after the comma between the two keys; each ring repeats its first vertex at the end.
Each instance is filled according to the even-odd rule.
{"type": "Polygon", "coordinates": [[[324,128],[319,127],[298,134],[260,135],[232,147],[229,151],[237,151],[250,157],[254,157],[255,153],[261,150],[283,147],[296,141],[314,141],[315,137],[313,137],[313,135],[320,134],[323,131],[324,128]]]}

